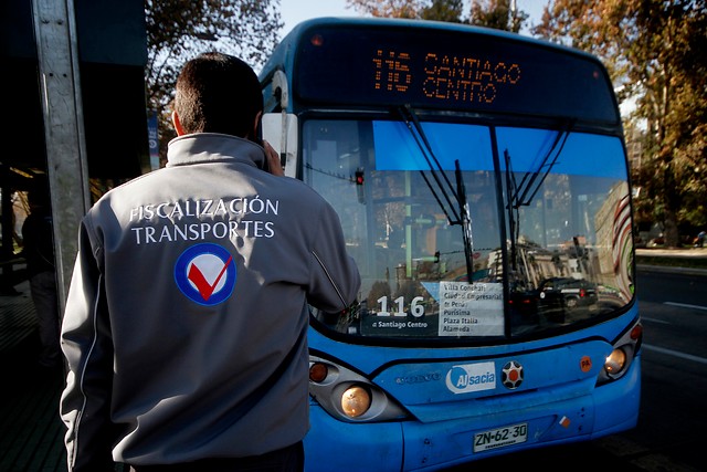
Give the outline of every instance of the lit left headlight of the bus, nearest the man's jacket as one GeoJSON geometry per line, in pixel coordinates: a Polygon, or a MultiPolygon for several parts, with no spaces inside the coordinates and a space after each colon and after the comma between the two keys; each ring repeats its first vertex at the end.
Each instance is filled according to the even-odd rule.
{"type": "Polygon", "coordinates": [[[372,422],[408,417],[402,407],[362,375],[312,355],[309,396],[342,421],[372,422]]]}

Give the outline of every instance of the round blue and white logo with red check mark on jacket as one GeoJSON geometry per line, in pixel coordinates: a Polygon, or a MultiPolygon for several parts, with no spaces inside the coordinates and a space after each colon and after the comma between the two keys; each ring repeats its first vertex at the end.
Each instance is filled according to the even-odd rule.
{"type": "Polygon", "coordinates": [[[235,277],[233,256],[218,244],[192,245],[181,253],[175,265],[177,286],[200,305],[218,305],[231,296],[235,277]]]}

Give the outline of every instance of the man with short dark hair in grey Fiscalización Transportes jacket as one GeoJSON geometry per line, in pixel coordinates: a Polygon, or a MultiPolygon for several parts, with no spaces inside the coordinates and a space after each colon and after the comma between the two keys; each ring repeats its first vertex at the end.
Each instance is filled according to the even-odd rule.
{"type": "Polygon", "coordinates": [[[262,103],[236,57],[189,61],[167,167],[83,219],[62,327],[70,471],[303,470],[308,303],[347,310],[360,276],[334,209],[261,145],[262,103]]]}

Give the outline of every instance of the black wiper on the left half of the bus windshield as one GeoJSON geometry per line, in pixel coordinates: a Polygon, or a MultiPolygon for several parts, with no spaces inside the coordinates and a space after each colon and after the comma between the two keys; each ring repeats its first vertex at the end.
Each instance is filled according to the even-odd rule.
{"type": "Polygon", "coordinates": [[[420,151],[422,153],[422,156],[424,157],[424,160],[428,162],[429,170],[432,174],[432,177],[434,178],[434,181],[440,192],[444,197],[444,200],[446,201],[450,211],[447,211],[447,207],[444,206],[442,199],[440,198],[434,187],[432,186],[432,182],[430,181],[430,179],[428,179],[428,176],[421,169],[420,175],[422,176],[422,179],[424,180],[425,185],[432,192],[432,196],[437,201],[437,204],[444,212],[444,216],[450,222],[450,225],[455,225],[455,224],[462,225],[464,256],[466,259],[466,276],[467,276],[468,283],[472,283],[473,276],[474,276],[474,263],[473,263],[474,245],[473,245],[473,237],[472,237],[472,218],[468,211],[468,201],[466,199],[466,188],[464,186],[464,179],[462,177],[460,160],[454,159],[454,166],[455,166],[454,175],[456,177],[456,189],[454,189],[454,187],[452,187],[452,182],[450,181],[446,174],[444,172],[442,165],[440,164],[439,159],[434,155],[434,151],[432,150],[432,146],[428,140],[428,137],[424,133],[424,129],[422,128],[422,125],[420,124],[420,119],[418,119],[418,115],[415,114],[415,112],[412,109],[410,105],[400,106],[397,109],[400,116],[402,117],[402,120],[408,126],[408,129],[410,130],[411,136],[414,138],[415,144],[418,145],[418,148],[420,149],[420,151]],[[444,182],[440,178],[440,174],[442,175],[444,182]],[[446,187],[443,183],[446,183],[446,187]],[[456,206],[454,203],[456,203],[456,206]]]}

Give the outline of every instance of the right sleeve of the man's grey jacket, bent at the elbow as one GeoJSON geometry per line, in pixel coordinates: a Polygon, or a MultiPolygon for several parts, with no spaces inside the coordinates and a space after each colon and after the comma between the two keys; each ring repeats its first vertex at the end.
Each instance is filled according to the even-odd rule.
{"type": "Polygon", "coordinates": [[[307,302],[330,313],[348,308],[356,301],[361,277],[346,252],[339,217],[328,203],[320,212],[312,258],[307,302]]]}

